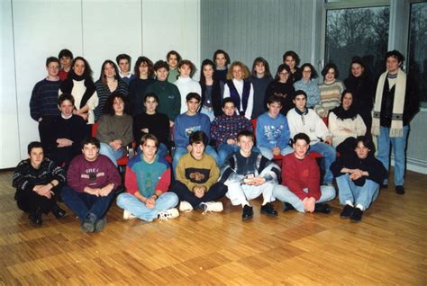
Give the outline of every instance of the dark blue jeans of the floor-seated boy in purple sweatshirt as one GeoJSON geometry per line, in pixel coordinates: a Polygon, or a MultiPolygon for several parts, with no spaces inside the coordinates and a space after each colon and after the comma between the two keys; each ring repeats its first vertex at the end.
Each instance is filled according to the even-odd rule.
{"type": "Polygon", "coordinates": [[[68,208],[83,222],[89,213],[93,213],[96,219],[104,217],[114,199],[114,190],[105,197],[97,197],[87,192],[76,192],[65,186],[62,188],[61,196],[68,208]]]}

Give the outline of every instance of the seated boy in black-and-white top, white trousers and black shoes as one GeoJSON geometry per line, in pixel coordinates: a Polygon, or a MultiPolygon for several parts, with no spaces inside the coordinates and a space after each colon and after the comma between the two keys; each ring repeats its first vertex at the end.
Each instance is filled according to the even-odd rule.
{"type": "Polygon", "coordinates": [[[252,151],[254,140],[253,133],[248,130],[237,135],[240,150],[228,156],[221,176],[221,182],[228,187],[226,196],[232,201],[232,205],[241,204],[243,220],[253,217],[253,209],[248,200],[261,194],[261,213],[277,216],[270,201],[274,200],[273,189],[277,185],[280,168],[259,152],[252,151]]]}

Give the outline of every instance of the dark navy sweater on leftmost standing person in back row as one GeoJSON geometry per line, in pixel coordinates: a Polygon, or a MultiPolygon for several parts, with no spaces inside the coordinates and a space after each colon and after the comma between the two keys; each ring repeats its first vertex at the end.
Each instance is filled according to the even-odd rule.
{"type": "Polygon", "coordinates": [[[46,78],[34,85],[30,112],[34,121],[43,117],[60,115],[58,109],[58,90],[61,81],[50,81],[46,78]]]}

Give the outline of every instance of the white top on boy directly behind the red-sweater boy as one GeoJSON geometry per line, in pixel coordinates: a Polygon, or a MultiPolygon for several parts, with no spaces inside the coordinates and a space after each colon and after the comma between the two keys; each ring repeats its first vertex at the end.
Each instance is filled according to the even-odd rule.
{"type": "Polygon", "coordinates": [[[332,137],[319,115],[313,109],[307,110],[308,112],[303,115],[295,112],[295,108],[287,112],[286,118],[291,131],[291,139],[294,138],[295,134],[305,133],[311,140],[310,145],[313,145],[319,142],[320,139],[324,140],[328,136],[332,137]]]}

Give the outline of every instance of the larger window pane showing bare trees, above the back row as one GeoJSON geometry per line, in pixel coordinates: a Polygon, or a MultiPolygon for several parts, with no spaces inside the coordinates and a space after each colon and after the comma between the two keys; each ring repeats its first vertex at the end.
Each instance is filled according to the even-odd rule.
{"type": "Polygon", "coordinates": [[[351,59],[358,56],[367,66],[368,76],[377,78],[385,70],[388,23],[388,6],[328,10],[325,64],[336,64],[344,79],[351,59]]]}

